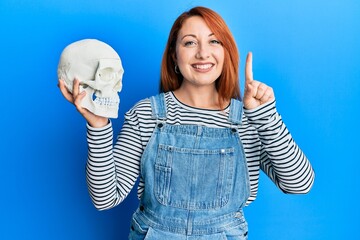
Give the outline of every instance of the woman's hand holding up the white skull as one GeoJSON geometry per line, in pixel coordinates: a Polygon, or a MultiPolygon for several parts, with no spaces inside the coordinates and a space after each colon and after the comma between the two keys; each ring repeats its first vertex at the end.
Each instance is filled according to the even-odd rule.
{"type": "Polygon", "coordinates": [[[78,112],[85,118],[85,120],[89,123],[89,125],[95,128],[101,128],[106,126],[109,123],[108,118],[97,116],[81,106],[81,101],[85,97],[86,92],[85,91],[79,92],[79,86],[80,86],[79,80],[75,79],[73,82],[73,91],[71,93],[66,88],[64,80],[59,79],[58,87],[60,88],[62,95],[66,98],[66,100],[68,100],[69,102],[75,105],[78,112]]]}

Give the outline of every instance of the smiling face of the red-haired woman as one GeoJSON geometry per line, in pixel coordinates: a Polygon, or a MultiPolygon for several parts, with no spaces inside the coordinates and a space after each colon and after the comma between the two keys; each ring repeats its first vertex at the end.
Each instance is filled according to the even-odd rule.
{"type": "Polygon", "coordinates": [[[215,85],[224,65],[224,48],[199,16],[184,21],[176,41],[175,62],[182,84],[215,85]]]}

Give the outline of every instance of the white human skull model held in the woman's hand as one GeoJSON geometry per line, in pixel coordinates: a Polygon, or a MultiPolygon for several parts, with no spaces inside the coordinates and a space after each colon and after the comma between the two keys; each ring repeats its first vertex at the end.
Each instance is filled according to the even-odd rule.
{"type": "Polygon", "coordinates": [[[96,39],[71,43],[61,53],[57,73],[70,92],[75,78],[80,81],[80,91],[86,92],[82,107],[98,116],[117,118],[124,69],[112,47],[96,39]]]}

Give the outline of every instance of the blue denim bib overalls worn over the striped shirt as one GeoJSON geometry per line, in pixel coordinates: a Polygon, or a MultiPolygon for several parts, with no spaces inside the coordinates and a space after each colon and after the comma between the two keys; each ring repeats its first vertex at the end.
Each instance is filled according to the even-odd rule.
{"type": "Polygon", "coordinates": [[[141,159],[145,188],[129,239],[247,239],[242,103],[231,100],[228,128],[209,128],[167,124],[164,94],[150,100],[157,126],[141,159]]]}

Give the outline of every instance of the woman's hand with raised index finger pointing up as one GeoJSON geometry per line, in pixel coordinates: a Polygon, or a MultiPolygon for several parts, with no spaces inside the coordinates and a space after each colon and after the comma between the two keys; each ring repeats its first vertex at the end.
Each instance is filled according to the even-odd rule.
{"type": "Polygon", "coordinates": [[[264,103],[273,101],[274,98],[274,92],[271,87],[254,80],[252,72],[252,53],[249,52],[246,57],[245,65],[244,107],[246,109],[254,109],[264,103]]]}

